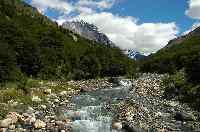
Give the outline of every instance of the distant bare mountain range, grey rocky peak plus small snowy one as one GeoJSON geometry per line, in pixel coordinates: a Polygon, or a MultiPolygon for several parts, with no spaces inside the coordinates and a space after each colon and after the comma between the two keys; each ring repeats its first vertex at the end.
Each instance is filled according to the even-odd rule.
{"type": "MultiPolygon", "coordinates": [[[[81,35],[89,40],[93,40],[100,44],[105,44],[109,46],[114,46],[115,44],[104,34],[100,33],[98,27],[93,24],[89,24],[83,20],[81,21],[72,21],[72,22],[65,22],[62,25],[64,28],[81,35]]],[[[129,58],[134,60],[140,60],[145,58],[145,55],[133,50],[127,49],[123,50],[123,52],[128,55],[129,58]]]]}

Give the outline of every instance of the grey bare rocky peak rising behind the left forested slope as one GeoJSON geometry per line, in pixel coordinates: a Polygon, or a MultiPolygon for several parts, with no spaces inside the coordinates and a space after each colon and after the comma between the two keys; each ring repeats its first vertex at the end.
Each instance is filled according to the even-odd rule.
{"type": "Polygon", "coordinates": [[[97,43],[113,46],[113,43],[109,40],[109,38],[105,34],[100,33],[95,25],[84,22],[83,20],[65,22],[62,27],[97,43]]]}

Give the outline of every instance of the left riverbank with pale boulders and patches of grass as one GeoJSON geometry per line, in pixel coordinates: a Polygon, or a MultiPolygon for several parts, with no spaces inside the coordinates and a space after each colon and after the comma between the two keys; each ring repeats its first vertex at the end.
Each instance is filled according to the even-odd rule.
{"type": "Polygon", "coordinates": [[[0,90],[0,132],[68,132],[71,120],[62,110],[73,106],[70,103],[72,96],[105,87],[112,87],[108,79],[69,82],[35,80],[28,93],[16,87],[4,88],[0,90]]]}

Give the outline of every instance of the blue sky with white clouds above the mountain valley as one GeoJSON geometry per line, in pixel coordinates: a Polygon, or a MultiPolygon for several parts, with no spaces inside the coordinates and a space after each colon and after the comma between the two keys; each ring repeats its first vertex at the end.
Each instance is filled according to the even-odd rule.
{"type": "Polygon", "coordinates": [[[80,19],[93,23],[120,48],[145,54],[200,25],[200,0],[25,1],[59,24],[80,19]]]}

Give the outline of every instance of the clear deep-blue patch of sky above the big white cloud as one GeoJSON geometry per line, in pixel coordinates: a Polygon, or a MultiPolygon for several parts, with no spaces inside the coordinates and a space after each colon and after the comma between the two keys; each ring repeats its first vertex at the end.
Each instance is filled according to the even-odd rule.
{"type": "Polygon", "coordinates": [[[180,32],[188,30],[197,20],[185,15],[188,0],[125,0],[111,9],[120,15],[130,15],[145,22],[176,22],[180,32]]]}

